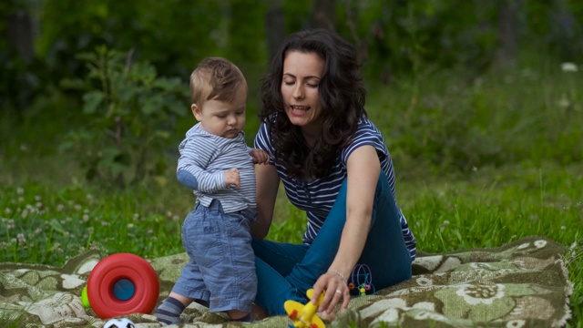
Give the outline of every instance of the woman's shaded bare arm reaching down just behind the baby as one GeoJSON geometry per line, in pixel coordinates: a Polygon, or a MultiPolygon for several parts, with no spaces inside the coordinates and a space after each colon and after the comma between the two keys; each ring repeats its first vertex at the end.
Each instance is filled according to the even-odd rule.
{"type": "Polygon", "coordinates": [[[257,179],[257,221],[251,224],[251,234],[253,237],[262,240],[270,231],[271,220],[273,220],[273,210],[277,191],[280,187],[280,176],[275,166],[256,165],[255,177],[257,179]]]}

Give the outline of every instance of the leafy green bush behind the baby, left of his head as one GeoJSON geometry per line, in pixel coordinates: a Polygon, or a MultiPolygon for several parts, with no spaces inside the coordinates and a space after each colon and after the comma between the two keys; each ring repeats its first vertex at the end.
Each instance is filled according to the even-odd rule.
{"type": "Polygon", "coordinates": [[[157,77],[148,63],[132,63],[131,52],[100,46],[78,57],[87,63],[87,77],[63,85],[85,90],[86,123],[72,129],[61,149],[81,154],[87,179],[123,187],[161,174],[170,131],[187,112],[188,87],[157,77]]]}

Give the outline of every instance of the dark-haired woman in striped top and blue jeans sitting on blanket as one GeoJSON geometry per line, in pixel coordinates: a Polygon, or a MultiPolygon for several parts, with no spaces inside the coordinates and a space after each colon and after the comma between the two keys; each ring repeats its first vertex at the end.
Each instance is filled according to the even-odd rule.
{"type": "Polygon", "coordinates": [[[380,131],[366,117],[356,51],[331,31],[288,36],[261,86],[255,146],[270,155],[256,167],[259,219],[251,228],[256,303],[270,315],[283,302],[312,302],[328,315],[350,300],[347,281],[366,264],[376,289],[411,278],[415,240],[394,199],[394,169],[380,131]],[[265,241],[280,181],[308,215],[303,243],[265,241]]]}

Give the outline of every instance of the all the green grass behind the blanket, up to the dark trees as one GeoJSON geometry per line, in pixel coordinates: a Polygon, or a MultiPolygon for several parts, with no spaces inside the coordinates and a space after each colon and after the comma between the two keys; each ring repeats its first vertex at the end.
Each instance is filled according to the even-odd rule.
{"type": "MultiPolygon", "coordinates": [[[[437,72],[373,86],[367,108],[392,151],[418,249],[496,247],[528,235],[576,245],[565,257],[575,285],[568,326],[583,326],[583,78],[558,67],[469,81],[437,72]]],[[[183,251],[180,223],[194,199],[174,173],[126,190],[89,184],[76,154],[52,150],[66,128],[62,118],[43,127],[53,115],[2,120],[0,170],[10,174],[0,176],[0,261],[59,266],[87,249],[183,251]]],[[[305,215],[282,191],[275,217],[269,239],[302,240],[305,215]]]]}

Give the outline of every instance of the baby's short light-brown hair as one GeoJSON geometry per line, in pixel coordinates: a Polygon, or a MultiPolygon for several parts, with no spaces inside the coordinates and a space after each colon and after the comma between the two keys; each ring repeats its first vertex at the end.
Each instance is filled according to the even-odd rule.
{"type": "Polygon", "coordinates": [[[239,67],[222,57],[204,58],[190,74],[190,101],[199,107],[211,99],[231,101],[247,81],[239,67]]]}

